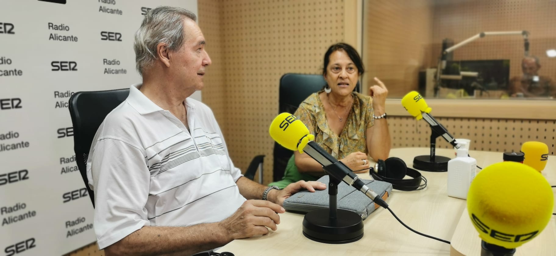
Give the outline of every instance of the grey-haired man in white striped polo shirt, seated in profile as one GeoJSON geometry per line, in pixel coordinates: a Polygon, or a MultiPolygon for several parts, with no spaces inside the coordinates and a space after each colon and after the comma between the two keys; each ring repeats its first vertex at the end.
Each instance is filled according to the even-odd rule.
{"type": "Polygon", "coordinates": [[[107,255],[190,255],[267,234],[285,198],[325,189],[302,181],[278,190],[234,167],[210,108],[188,98],[211,64],[195,20],[176,7],[146,14],[134,45],[143,83],[131,86],[91,146],[95,233],[107,255]]]}

